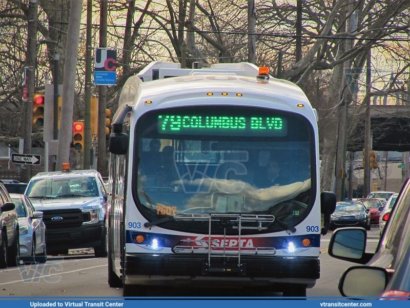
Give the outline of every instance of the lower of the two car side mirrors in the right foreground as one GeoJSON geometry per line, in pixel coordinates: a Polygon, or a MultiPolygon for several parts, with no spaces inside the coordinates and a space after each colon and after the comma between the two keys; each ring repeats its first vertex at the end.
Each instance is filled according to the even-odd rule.
{"type": "Polygon", "coordinates": [[[343,296],[357,299],[378,297],[383,293],[387,283],[388,274],[384,268],[353,266],[346,269],[340,278],[339,291],[343,296]]]}

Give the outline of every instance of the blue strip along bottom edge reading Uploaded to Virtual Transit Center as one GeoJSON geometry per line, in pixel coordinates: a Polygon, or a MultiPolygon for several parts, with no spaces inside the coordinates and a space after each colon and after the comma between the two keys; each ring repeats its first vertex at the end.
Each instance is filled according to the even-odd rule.
{"type": "Polygon", "coordinates": [[[169,307],[178,308],[226,308],[227,305],[235,305],[235,308],[249,308],[254,305],[283,305],[286,307],[303,308],[325,308],[325,307],[372,307],[385,308],[394,304],[395,308],[408,307],[408,301],[395,301],[390,299],[410,299],[410,298],[388,298],[389,300],[378,300],[376,298],[365,298],[362,300],[347,298],[49,298],[49,299],[27,299],[16,297],[0,298],[0,305],[3,307],[12,306],[13,308],[48,308],[48,307],[122,307],[135,308],[136,305],[147,305],[149,307],[169,307]],[[300,302],[300,300],[305,300],[300,302]]]}

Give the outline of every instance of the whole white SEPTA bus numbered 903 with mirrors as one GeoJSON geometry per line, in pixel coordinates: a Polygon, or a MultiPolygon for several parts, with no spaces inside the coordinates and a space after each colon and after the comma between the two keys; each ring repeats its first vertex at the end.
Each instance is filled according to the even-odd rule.
{"type": "Polygon", "coordinates": [[[315,285],[336,197],[320,194],[317,114],[293,83],[153,62],[121,91],[110,151],[108,281],[124,296],[315,285]]]}

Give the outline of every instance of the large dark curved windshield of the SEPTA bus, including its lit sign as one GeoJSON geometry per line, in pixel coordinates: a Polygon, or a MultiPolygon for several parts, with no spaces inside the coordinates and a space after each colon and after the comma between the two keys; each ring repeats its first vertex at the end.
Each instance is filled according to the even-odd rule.
{"type": "Polygon", "coordinates": [[[134,199],[150,221],[238,213],[296,225],[313,206],[314,134],[300,115],[173,108],[149,113],[136,127],[134,199]]]}

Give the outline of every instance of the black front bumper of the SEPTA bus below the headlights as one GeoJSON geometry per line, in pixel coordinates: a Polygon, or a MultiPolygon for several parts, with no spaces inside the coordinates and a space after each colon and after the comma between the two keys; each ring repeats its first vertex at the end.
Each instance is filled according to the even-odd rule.
{"type": "Polygon", "coordinates": [[[126,284],[262,286],[304,284],[311,288],[320,277],[320,261],[315,257],[211,258],[126,254],[123,269],[126,284]]]}

